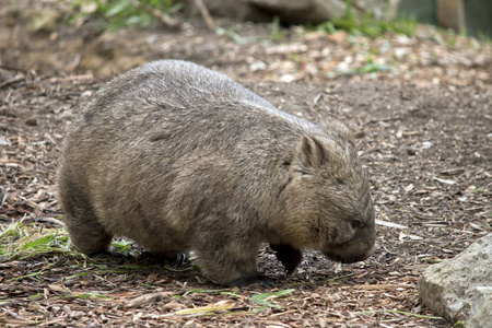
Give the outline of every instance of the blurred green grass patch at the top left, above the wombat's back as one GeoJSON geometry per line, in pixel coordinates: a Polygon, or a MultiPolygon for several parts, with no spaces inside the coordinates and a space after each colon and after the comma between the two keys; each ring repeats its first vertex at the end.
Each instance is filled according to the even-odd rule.
{"type": "Polygon", "coordinates": [[[72,1],[71,5],[77,12],[71,21],[97,16],[114,31],[130,25],[154,25],[159,19],[151,11],[169,15],[178,11],[183,3],[175,4],[173,0],[77,0],[72,1]]]}

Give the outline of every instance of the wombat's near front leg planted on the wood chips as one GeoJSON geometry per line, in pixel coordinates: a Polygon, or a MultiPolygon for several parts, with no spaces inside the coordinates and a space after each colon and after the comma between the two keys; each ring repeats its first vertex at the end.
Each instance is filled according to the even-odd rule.
{"type": "Polygon", "coordinates": [[[258,273],[256,259],[258,257],[258,244],[247,238],[207,238],[208,245],[197,247],[197,262],[202,272],[214,282],[231,286],[245,286],[253,283],[261,283],[267,286],[274,282],[258,273]]]}

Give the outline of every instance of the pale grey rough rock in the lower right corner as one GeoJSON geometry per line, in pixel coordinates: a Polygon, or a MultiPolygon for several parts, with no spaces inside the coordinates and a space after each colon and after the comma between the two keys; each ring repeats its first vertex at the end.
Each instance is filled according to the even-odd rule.
{"type": "Polygon", "coordinates": [[[419,296],[429,308],[452,321],[469,320],[475,314],[479,323],[485,305],[472,305],[473,300],[489,302],[490,317],[490,294],[488,300],[475,296],[483,286],[492,286],[492,234],[455,258],[429,267],[419,279],[419,296]]]}

